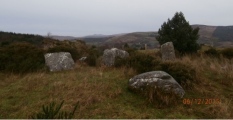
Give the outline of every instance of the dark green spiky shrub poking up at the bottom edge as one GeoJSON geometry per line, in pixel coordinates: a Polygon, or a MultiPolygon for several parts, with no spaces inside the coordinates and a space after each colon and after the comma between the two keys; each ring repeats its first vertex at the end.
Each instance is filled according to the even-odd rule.
{"type": "Polygon", "coordinates": [[[32,119],[72,119],[74,117],[74,113],[78,107],[78,103],[75,105],[72,112],[67,113],[64,111],[60,111],[64,101],[62,101],[58,106],[55,102],[49,104],[49,106],[42,106],[42,111],[32,115],[32,119]]]}

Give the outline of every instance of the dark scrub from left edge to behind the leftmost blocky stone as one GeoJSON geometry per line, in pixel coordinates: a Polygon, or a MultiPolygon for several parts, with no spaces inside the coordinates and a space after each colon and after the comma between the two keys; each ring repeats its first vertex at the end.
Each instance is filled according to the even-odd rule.
{"type": "MultiPolygon", "coordinates": [[[[0,32],[0,34],[3,33],[0,32]]],[[[44,71],[46,70],[44,60],[45,53],[69,52],[74,61],[89,55],[89,59],[93,58],[92,63],[94,66],[97,57],[101,54],[99,51],[80,40],[73,42],[67,40],[58,41],[42,37],[43,39],[40,39],[41,44],[37,44],[37,42],[32,41],[36,38],[39,39],[40,36],[4,33],[1,37],[4,36],[10,39],[15,38],[16,40],[0,40],[0,72],[3,73],[25,74],[44,71]],[[21,41],[21,37],[31,39],[21,41]]]]}

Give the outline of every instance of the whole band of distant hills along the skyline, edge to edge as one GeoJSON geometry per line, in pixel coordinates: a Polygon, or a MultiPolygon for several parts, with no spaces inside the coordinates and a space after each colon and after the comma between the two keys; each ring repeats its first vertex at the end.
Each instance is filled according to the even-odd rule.
{"type": "MultiPolygon", "coordinates": [[[[233,26],[208,26],[208,25],[192,25],[193,28],[199,27],[199,44],[207,44],[215,47],[233,47],[233,26]]],[[[29,35],[16,34],[9,32],[0,32],[0,43],[25,41],[36,45],[41,45],[44,39],[51,40],[82,40],[87,44],[107,47],[122,47],[126,43],[135,48],[142,48],[146,44],[149,49],[158,48],[159,43],[155,36],[157,32],[134,32],[114,35],[94,34],[84,37],[72,36],[51,36],[51,38],[29,35]]]]}

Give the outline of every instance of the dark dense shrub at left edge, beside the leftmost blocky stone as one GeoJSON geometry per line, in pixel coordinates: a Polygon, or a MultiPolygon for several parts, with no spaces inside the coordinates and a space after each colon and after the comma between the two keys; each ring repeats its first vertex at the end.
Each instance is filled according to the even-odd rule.
{"type": "Polygon", "coordinates": [[[27,73],[45,66],[43,50],[29,43],[12,43],[0,49],[0,71],[27,73]]]}

